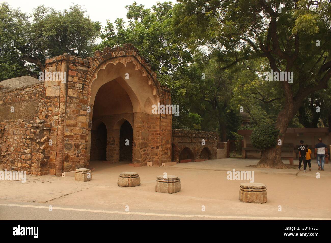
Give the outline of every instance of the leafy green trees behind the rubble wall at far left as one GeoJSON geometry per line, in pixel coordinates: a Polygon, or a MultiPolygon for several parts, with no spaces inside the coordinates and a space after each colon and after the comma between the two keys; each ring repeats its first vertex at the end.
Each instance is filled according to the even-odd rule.
{"type": "Polygon", "coordinates": [[[101,25],[85,16],[80,5],[55,11],[43,5],[31,14],[22,13],[8,4],[0,5],[1,80],[45,69],[47,58],[68,53],[80,57],[93,54],[93,43],[101,25]]]}

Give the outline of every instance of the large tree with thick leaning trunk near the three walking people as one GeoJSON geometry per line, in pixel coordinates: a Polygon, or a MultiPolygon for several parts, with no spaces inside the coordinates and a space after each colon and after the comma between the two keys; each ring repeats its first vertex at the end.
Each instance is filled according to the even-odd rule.
{"type": "MultiPolygon", "coordinates": [[[[331,77],[331,5],[322,1],[197,0],[175,6],[176,33],[191,46],[208,45],[224,69],[263,58],[264,71],[293,72],[293,83],[271,81],[280,91],[275,120],[286,130],[307,95],[326,89],[331,77]],[[205,9],[205,13],[204,13],[205,9]]],[[[258,167],[286,168],[281,146],[265,149],[258,167]]]]}

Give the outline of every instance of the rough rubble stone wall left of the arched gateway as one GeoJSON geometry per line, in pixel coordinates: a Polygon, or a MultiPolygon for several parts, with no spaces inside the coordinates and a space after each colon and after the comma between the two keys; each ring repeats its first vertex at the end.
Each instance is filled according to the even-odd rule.
{"type": "Polygon", "coordinates": [[[44,82],[0,93],[0,167],[33,175],[55,169],[58,103],[44,82]]]}

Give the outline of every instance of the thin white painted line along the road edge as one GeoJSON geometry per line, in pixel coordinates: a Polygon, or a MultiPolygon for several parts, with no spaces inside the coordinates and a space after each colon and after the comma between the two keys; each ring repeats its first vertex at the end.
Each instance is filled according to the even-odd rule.
{"type": "MultiPolygon", "coordinates": [[[[48,206],[23,205],[23,204],[7,204],[7,203],[0,203],[0,206],[49,209],[48,206]]],[[[79,209],[79,208],[60,208],[60,207],[53,207],[53,210],[54,209],[57,209],[57,210],[69,210],[69,211],[81,211],[81,212],[92,212],[92,213],[106,213],[106,214],[132,214],[132,215],[187,217],[187,218],[255,219],[255,220],[331,220],[331,218],[299,218],[299,217],[259,217],[259,216],[218,216],[218,215],[190,215],[190,214],[158,214],[158,213],[121,212],[121,211],[107,211],[107,210],[79,209]]]]}

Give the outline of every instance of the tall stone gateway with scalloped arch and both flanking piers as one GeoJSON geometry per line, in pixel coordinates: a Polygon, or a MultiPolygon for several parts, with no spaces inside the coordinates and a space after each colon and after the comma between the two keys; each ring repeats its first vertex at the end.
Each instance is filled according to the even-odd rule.
{"type": "Polygon", "coordinates": [[[120,128],[114,125],[126,119],[133,128],[135,166],[171,161],[171,114],[152,114],[150,107],[170,105],[170,90],[160,85],[156,73],[132,45],[106,47],[86,59],[65,53],[47,59],[45,68],[67,75],[67,82],[45,82],[46,96],[58,102],[58,112],[50,119],[57,124],[50,134],[56,140],[56,151],[49,155],[56,176],[88,168],[92,123],[98,119],[107,127],[106,160],[119,161],[120,128]],[[103,97],[101,102],[98,96],[103,97]]]}

